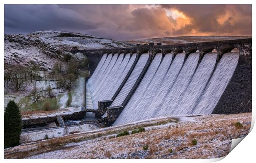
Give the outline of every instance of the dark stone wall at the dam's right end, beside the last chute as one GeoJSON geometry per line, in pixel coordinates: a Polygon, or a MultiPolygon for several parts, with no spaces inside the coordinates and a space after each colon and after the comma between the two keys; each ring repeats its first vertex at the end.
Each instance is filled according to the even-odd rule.
{"type": "Polygon", "coordinates": [[[251,43],[235,47],[239,49],[237,68],[213,114],[251,112],[251,43]]]}

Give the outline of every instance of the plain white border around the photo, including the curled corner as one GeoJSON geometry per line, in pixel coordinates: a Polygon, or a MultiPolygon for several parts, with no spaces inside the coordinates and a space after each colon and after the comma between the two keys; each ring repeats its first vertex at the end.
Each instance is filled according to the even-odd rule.
{"type": "MultiPolygon", "coordinates": [[[[232,0],[232,1],[227,1],[227,0],[212,0],[212,1],[203,1],[203,0],[176,0],[176,1],[170,1],[170,0],[157,0],[157,1],[153,1],[153,0],[108,0],[108,1],[103,1],[103,0],[91,0],[91,1],[82,1],[82,0],[70,0],[70,1],[66,1],[66,0],[43,0],[43,1],[34,1],[34,0],[4,0],[3,1],[3,4],[1,5],[1,22],[4,22],[4,4],[20,4],[20,3],[23,3],[23,4],[106,4],[106,2],[108,2],[108,4],[230,4],[230,2],[232,4],[253,4],[252,5],[252,17],[254,18],[254,15],[255,15],[255,4],[254,2],[256,1],[252,1],[252,0],[232,0]],[[193,2],[193,3],[192,3],[193,2]]],[[[195,11],[196,12],[196,11],[195,11]]],[[[252,19],[252,27],[255,26],[255,20],[252,19]]],[[[254,28],[252,28],[254,29],[254,28]]],[[[1,26],[1,31],[2,31],[2,34],[4,34],[4,23],[2,24],[1,26]]],[[[252,38],[253,38],[253,43],[254,43],[254,31],[252,31],[252,38]]],[[[2,98],[1,98],[1,104],[2,104],[2,109],[4,108],[4,89],[3,89],[3,85],[4,85],[4,82],[3,82],[3,69],[4,69],[4,62],[3,62],[3,54],[4,54],[4,39],[2,38],[1,39],[1,52],[2,52],[2,62],[1,62],[1,70],[0,73],[1,73],[1,76],[2,76],[2,79],[0,80],[1,82],[1,92],[2,92],[2,98]]],[[[252,48],[252,51],[253,51],[253,54],[256,54],[256,50],[254,49],[254,46],[252,48]]],[[[253,57],[252,59],[252,62],[254,62],[254,59],[255,57],[253,57]]],[[[254,70],[255,66],[254,64],[252,65],[252,69],[254,70]]],[[[254,72],[254,71],[253,71],[254,72]]],[[[254,82],[255,81],[255,75],[254,73],[252,74],[253,78],[252,78],[252,81],[254,82]]],[[[252,94],[254,95],[255,94],[255,89],[253,87],[252,89],[252,94]]],[[[253,105],[254,106],[254,96],[253,96],[253,105]]],[[[255,109],[254,107],[253,108],[253,120],[252,120],[252,124],[254,124],[255,122],[255,109]]],[[[2,118],[1,118],[1,131],[2,131],[2,135],[1,135],[1,146],[2,146],[2,159],[4,158],[4,147],[3,147],[3,140],[4,140],[4,133],[3,133],[3,130],[4,130],[4,114],[3,114],[3,111],[2,111],[2,118]]],[[[252,125],[253,126],[253,125],[252,125]]],[[[217,159],[190,159],[190,160],[187,160],[187,159],[158,159],[158,160],[149,160],[149,159],[133,159],[133,160],[129,160],[129,159],[123,159],[122,162],[154,162],[154,161],[160,161],[160,162],[181,162],[181,163],[185,163],[187,161],[189,162],[214,162],[214,161],[218,161],[218,160],[221,160],[220,162],[221,163],[225,163],[225,162],[232,162],[232,163],[236,163],[236,162],[239,162],[239,163],[243,163],[243,162],[252,162],[255,158],[255,138],[256,138],[256,131],[255,129],[252,130],[249,135],[247,137],[244,138],[244,140],[242,141],[242,143],[239,143],[237,145],[237,147],[235,147],[235,149],[233,149],[230,154],[228,154],[228,156],[226,156],[224,159],[222,158],[217,158],[217,159]]],[[[24,162],[35,162],[35,160],[32,160],[32,159],[27,159],[27,160],[17,160],[17,159],[5,159],[4,161],[6,162],[16,162],[16,161],[19,161],[19,163],[24,163],[24,162]]],[[[68,163],[70,162],[71,160],[68,160],[68,159],[48,159],[48,160],[43,160],[43,159],[38,159],[36,160],[37,162],[39,163],[44,163],[45,161],[50,161],[50,162],[62,162],[62,163],[68,163]]],[[[104,162],[104,163],[117,163],[117,162],[120,162],[120,160],[108,160],[108,159],[93,159],[93,160],[83,160],[83,159],[76,159],[76,160],[72,160],[72,161],[76,161],[76,162],[83,162],[84,161],[90,161],[90,163],[95,163],[95,162],[104,162]]]]}

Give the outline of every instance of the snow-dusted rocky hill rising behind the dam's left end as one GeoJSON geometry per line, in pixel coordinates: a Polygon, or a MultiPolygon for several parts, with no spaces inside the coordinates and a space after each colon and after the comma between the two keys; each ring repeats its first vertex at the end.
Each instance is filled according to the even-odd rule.
{"type": "MultiPolygon", "coordinates": [[[[29,34],[5,35],[5,61],[8,64],[40,65],[41,70],[52,69],[55,61],[63,61],[73,49],[130,47],[133,44],[104,39],[81,33],[37,31],[29,34]]],[[[71,54],[83,58],[82,54],[71,54]]]]}

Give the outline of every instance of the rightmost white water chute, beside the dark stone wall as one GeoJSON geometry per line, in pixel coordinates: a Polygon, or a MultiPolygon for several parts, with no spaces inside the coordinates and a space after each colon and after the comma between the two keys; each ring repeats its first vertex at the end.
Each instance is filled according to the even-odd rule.
{"type": "Polygon", "coordinates": [[[199,99],[199,104],[192,113],[211,114],[237,67],[238,59],[238,52],[223,54],[204,94],[199,99]]]}

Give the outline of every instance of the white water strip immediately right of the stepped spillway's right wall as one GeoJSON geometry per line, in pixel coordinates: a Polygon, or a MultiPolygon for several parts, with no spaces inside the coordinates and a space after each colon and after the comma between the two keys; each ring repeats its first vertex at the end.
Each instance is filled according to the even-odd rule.
{"type": "Polygon", "coordinates": [[[141,97],[143,94],[147,92],[148,85],[152,82],[152,78],[154,77],[157,68],[159,67],[162,59],[162,54],[156,54],[154,60],[150,64],[145,76],[140,82],[140,85],[135,90],[133,96],[130,98],[128,104],[123,109],[122,113],[119,115],[119,119],[128,119],[132,113],[135,113],[137,104],[140,104],[141,97]]]}

